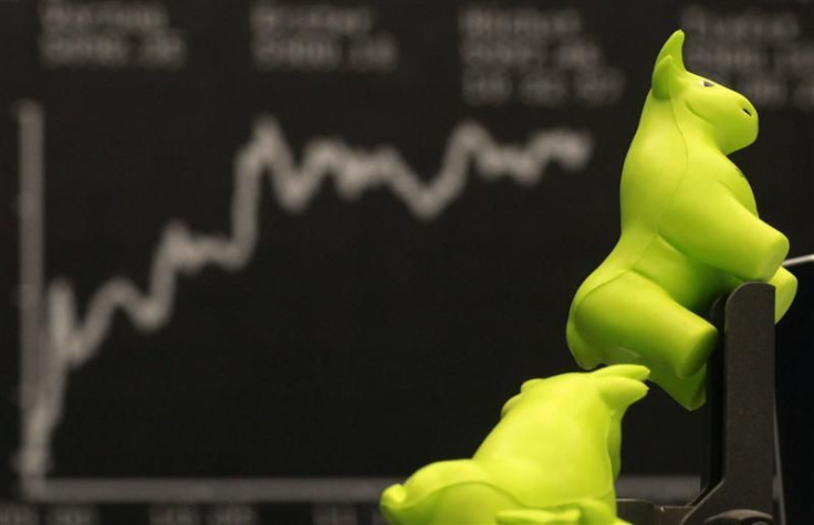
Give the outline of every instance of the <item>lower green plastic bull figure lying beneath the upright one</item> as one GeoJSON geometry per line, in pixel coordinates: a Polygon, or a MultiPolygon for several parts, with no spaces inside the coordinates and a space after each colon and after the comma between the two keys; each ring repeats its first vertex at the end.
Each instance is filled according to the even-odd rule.
{"type": "Polygon", "coordinates": [[[644,366],[523,384],[471,460],[442,461],[382,495],[396,525],[623,524],[622,418],[647,393],[644,366]]]}

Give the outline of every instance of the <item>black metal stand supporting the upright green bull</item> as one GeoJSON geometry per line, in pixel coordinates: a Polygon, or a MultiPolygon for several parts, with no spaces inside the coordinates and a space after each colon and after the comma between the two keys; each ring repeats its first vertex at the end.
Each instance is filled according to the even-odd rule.
{"type": "Polygon", "coordinates": [[[747,283],[712,308],[701,493],[685,506],[619,500],[635,525],[770,525],[774,482],[774,287],[747,283]]]}

